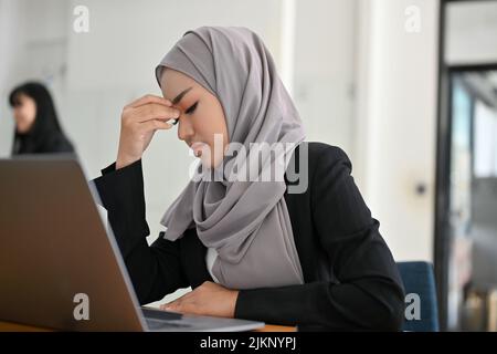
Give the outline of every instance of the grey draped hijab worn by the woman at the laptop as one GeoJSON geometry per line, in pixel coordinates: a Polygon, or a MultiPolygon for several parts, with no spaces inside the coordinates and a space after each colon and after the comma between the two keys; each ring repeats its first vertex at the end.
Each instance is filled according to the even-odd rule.
{"type": "MultiPolygon", "coordinates": [[[[243,144],[247,156],[251,143],[294,143],[284,152],[288,157],[304,140],[302,121],[273,58],[248,29],[188,31],[157,66],[158,82],[165,66],[187,74],[218,97],[230,143],[243,144]]],[[[225,171],[233,168],[233,162],[224,157],[225,171]]],[[[275,164],[265,162],[258,173],[275,164]]],[[[190,180],[160,221],[167,227],[165,238],[176,240],[187,229],[197,228],[201,242],[218,251],[213,274],[231,289],[304,283],[284,198],[286,185],[279,177],[271,181],[190,180]]]]}

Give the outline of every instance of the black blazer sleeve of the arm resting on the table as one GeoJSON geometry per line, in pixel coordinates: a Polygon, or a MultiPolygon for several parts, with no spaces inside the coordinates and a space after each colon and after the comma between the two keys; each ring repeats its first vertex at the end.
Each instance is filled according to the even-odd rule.
{"type": "Polygon", "coordinates": [[[235,316],[310,330],[398,331],[404,290],[339,148],[319,156],[310,184],[314,226],[339,283],[242,290],[235,316]]]}

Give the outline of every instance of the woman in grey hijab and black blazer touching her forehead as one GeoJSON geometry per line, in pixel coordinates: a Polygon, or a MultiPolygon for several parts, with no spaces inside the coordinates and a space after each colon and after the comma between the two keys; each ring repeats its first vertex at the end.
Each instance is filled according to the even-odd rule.
{"type": "Polygon", "coordinates": [[[192,287],[162,309],[400,329],[402,282],[350,162],[338,147],[304,142],[261,38],[245,28],[188,31],[156,77],[163,98],[124,108],[116,164],[95,180],[140,303],[192,287]],[[140,159],[155,132],[177,123],[198,174],[148,246],[140,159]],[[292,189],[296,181],[305,188],[292,189]]]}

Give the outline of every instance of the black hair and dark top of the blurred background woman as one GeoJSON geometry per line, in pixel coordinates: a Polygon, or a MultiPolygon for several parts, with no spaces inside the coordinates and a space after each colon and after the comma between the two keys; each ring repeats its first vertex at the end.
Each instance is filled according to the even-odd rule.
{"type": "Polygon", "coordinates": [[[20,104],[19,97],[22,94],[35,102],[36,115],[28,133],[19,133],[15,128],[12,155],[74,153],[73,144],[59,123],[52,96],[46,87],[38,82],[27,82],[17,86],[9,95],[11,107],[20,104]]]}

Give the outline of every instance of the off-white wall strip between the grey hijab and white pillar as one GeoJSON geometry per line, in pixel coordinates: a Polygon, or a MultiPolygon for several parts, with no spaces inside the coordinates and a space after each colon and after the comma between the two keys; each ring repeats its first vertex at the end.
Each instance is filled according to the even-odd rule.
{"type": "Polygon", "coordinates": [[[297,1],[295,103],[309,140],[340,146],[355,162],[356,0],[297,1]]]}

